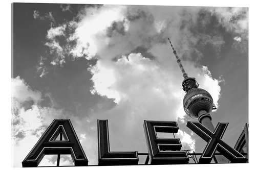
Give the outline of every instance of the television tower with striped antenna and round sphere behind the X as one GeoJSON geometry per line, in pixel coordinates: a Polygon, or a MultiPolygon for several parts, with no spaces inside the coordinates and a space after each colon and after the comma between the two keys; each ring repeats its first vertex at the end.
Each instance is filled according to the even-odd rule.
{"type": "Polygon", "coordinates": [[[168,38],[170,46],[173,48],[173,53],[177,59],[177,63],[180,66],[181,72],[183,74],[184,80],[182,82],[183,90],[186,95],[183,99],[183,108],[188,116],[191,118],[198,119],[198,121],[208,128],[210,131],[214,132],[214,125],[211,123],[210,112],[216,109],[214,101],[210,93],[204,89],[198,88],[199,84],[195,78],[188,77],[177,52],[170,39],[168,38]]]}

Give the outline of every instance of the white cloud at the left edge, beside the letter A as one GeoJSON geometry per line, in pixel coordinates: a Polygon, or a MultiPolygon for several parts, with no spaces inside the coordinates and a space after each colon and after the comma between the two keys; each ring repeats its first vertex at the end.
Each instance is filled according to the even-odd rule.
{"type": "Polygon", "coordinates": [[[52,120],[63,115],[62,110],[41,107],[41,92],[19,76],[12,79],[12,89],[13,164],[18,167],[52,120]]]}

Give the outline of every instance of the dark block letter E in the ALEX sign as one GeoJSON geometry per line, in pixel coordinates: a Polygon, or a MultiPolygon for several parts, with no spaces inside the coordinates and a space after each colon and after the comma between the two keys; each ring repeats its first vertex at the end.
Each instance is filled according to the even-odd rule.
{"type": "Polygon", "coordinates": [[[176,122],[158,122],[144,120],[144,131],[151,164],[185,164],[189,158],[186,152],[180,151],[179,138],[158,138],[157,132],[177,133],[176,122]]]}

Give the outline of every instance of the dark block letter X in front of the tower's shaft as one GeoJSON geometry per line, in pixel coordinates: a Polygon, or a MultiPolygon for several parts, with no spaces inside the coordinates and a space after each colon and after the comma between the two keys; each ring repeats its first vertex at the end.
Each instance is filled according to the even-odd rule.
{"type": "Polygon", "coordinates": [[[187,127],[204,139],[207,143],[199,163],[210,163],[216,150],[223,154],[231,163],[245,163],[247,159],[238,151],[221,140],[228,123],[218,123],[214,133],[198,122],[187,122],[187,127]]]}

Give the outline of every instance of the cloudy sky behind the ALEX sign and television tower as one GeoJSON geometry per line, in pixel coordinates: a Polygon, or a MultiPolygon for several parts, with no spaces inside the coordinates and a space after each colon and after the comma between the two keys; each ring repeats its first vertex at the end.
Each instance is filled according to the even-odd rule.
{"type": "MultiPolygon", "coordinates": [[[[182,74],[214,99],[234,146],[248,123],[248,8],[26,4],[13,7],[13,166],[54,118],[69,118],[89,165],[98,164],[97,119],[111,151],[147,152],[143,120],[176,121],[182,150],[206,142],[186,127],[182,74]]],[[[60,164],[71,164],[62,156],[60,164]]],[[[141,161],[139,162],[141,163],[141,161]]],[[[40,165],[56,164],[56,156],[40,165]]]]}

